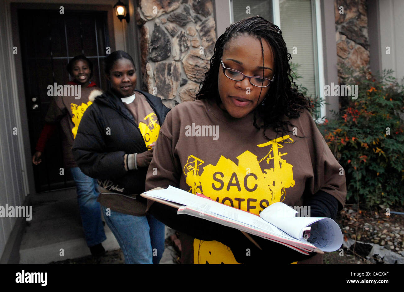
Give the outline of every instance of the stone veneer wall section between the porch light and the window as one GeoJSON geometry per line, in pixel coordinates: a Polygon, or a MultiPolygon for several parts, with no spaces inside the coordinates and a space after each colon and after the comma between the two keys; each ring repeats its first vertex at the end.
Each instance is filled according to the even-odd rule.
{"type": "Polygon", "coordinates": [[[194,100],[216,42],[212,0],[138,0],[143,90],[167,107],[194,100]]]}

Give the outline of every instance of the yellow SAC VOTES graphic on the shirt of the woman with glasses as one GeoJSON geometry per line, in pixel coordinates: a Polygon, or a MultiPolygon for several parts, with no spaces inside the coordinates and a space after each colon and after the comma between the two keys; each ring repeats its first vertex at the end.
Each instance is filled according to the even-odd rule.
{"type": "MultiPolygon", "coordinates": [[[[237,156],[238,164],[223,155],[216,165],[208,164],[200,168],[204,161],[194,155],[189,155],[184,166],[185,182],[189,185],[189,192],[203,193],[217,202],[239,208],[258,215],[267,206],[276,202],[282,202],[286,196],[286,189],[295,186],[292,165],[287,163],[279,149],[283,145],[279,142],[292,143],[289,135],[259,144],[258,147],[267,147],[268,153],[258,159],[257,155],[246,150],[237,156]],[[263,162],[263,169],[260,163],[263,162]]],[[[194,262],[233,263],[234,256],[229,258],[227,252],[223,253],[226,246],[219,242],[204,242],[204,248],[200,248],[200,241],[195,239],[194,262]],[[218,247],[220,246],[220,250],[218,247]],[[207,251],[207,252],[206,252],[207,251]],[[221,257],[220,255],[225,255],[221,257]],[[214,257],[212,255],[215,255],[214,257]],[[226,260],[227,258],[227,260],[226,260]]]]}

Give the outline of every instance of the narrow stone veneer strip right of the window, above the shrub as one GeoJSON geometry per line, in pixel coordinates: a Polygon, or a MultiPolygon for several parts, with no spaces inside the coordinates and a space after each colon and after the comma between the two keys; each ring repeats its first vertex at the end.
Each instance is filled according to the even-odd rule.
{"type": "Polygon", "coordinates": [[[338,81],[345,77],[341,64],[356,71],[369,65],[368,17],[366,0],[335,0],[335,30],[338,58],[338,81]],[[343,14],[340,14],[343,6],[343,14]]]}

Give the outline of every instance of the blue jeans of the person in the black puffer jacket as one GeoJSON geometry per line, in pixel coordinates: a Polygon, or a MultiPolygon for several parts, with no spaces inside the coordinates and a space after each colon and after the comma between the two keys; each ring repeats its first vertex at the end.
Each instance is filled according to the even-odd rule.
{"type": "Polygon", "coordinates": [[[147,214],[133,216],[101,206],[126,264],[158,264],[164,252],[164,224],[147,214]],[[108,215],[110,214],[110,215],[108,215]]]}

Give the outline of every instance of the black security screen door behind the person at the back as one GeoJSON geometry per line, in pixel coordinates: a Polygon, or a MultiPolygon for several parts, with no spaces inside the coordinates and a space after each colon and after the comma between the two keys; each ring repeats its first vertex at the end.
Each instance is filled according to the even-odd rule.
{"type": "MultiPolygon", "coordinates": [[[[19,9],[19,32],[23,60],[24,86],[32,153],[44,125],[44,117],[53,97],[47,86],[67,84],[72,78],[66,65],[76,55],[93,62],[93,78],[102,89],[107,88],[104,59],[109,46],[107,12],[19,9]]],[[[20,84],[22,86],[22,84],[20,84]]],[[[74,186],[68,169],[63,166],[62,135],[59,130],[46,143],[42,163],[34,166],[37,192],[74,186]]]]}

